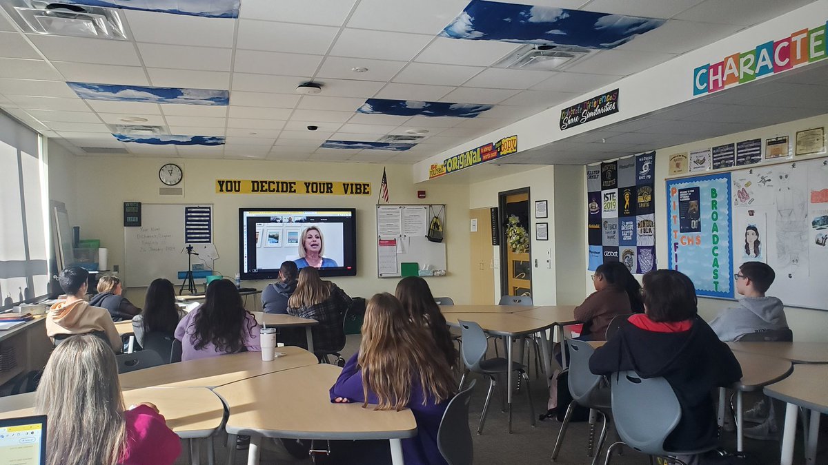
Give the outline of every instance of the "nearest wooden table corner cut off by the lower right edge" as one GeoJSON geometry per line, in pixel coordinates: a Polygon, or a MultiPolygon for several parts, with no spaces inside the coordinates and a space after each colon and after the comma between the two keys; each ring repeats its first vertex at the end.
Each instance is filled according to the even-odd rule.
{"type": "MultiPolygon", "coordinates": [[[[776,343],[770,343],[776,344],[776,343]]],[[[820,414],[828,414],[828,365],[797,365],[791,376],[765,386],[764,393],[787,402],[785,429],[782,434],[782,465],[792,465],[793,444],[797,435],[798,407],[811,410],[811,427],[806,434],[805,457],[815,463],[816,441],[820,430],[820,414]]]]}

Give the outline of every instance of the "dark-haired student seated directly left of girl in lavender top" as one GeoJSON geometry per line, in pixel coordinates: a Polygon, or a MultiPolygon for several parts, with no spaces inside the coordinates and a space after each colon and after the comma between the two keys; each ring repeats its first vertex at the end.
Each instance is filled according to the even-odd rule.
{"type": "Polygon", "coordinates": [[[172,336],[185,314],[185,311],[176,305],[176,290],[170,280],[153,280],[147,287],[143,311],[132,317],[132,333],[135,333],[135,340],[143,347],[146,333],[172,336]]]}

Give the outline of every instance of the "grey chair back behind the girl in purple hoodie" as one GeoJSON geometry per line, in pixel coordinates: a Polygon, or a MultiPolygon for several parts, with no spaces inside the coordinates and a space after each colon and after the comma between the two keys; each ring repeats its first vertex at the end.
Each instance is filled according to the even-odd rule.
{"type": "Polygon", "coordinates": [[[445,407],[440,429],[437,430],[437,448],[449,465],[472,465],[474,443],[469,429],[469,401],[474,390],[473,380],[469,388],[460,391],[445,407]]]}

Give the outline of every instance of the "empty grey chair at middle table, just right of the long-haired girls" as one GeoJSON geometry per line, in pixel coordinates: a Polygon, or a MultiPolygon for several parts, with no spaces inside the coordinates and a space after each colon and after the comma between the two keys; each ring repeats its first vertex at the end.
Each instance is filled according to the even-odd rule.
{"type": "MultiPolygon", "coordinates": [[[[483,425],[486,422],[486,413],[489,411],[489,400],[492,400],[492,392],[494,391],[494,386],[497,384],[495,376],[501,374],[512,376],[512,372],[517,372],[518,376],[522,376],[527,383],[529,377],[523,369],[523,366],[518,362],[509,362],[502,357],[484,360],[483,357],[486,355],[486,349],[489,348],[489,343],[486,341],[486,334],[483,332],[483,328],[480,328],[479,324],[471,321],[458,320],[458,323],[460,324],[460,332],[463,333],[463,350],[460,354],[463,357],[466,370],[468,372],[489,376],[489,392],[486,394],[483,412],[480,414],[480,424],[477,428],[477,434],[482,434],[483,425]]],[[[463,381],[465,381],[465,373],[460,379],[460,389],[463,388],[463,381]]],[[[532,405],[532,394],[528,388],[525,391],[529,399],[529,416],[532,419],[532,426],[534,426],[535,407],[532,405]]],[[[501,402],[503,403],[503,392],[501,392],[501,402]]],[[[509,405],[508,411],[508,433],[512,433],[512,405],[509,405]]]]}

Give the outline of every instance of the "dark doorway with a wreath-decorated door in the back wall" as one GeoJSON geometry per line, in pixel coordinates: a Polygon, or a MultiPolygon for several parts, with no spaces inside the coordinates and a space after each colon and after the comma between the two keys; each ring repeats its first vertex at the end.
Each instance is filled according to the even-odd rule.
{"type": "Polygon", "coordinates": [[[500,206],[501,295],[532,297],[532,225],[529,188],[498,194],[500,206]]]}

